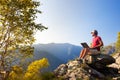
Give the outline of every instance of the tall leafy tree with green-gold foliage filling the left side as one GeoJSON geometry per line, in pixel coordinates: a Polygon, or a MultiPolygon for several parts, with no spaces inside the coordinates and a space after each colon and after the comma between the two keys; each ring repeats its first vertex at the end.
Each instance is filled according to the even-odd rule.
{"type": "Polygon", "coordinates": [[[20,62],[17,56],[33,53],[35,32],[47,29],[35,23],[36,14],[41,13],[38,6],[40,2],[33,0],[0,0],[0,70],[20,62]]]}

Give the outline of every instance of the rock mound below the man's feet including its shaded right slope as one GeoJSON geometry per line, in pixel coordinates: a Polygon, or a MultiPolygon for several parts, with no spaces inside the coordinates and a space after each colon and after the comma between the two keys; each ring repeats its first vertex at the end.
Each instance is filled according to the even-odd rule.
{"type": "Polygon", "coordinates": [[[97,72],[87,64],[82,64],[79,61],[70,61],[67,64],[62,64],[54,71],[54,73],[58,77],[64,76],[66,80],[92,80],[94,79],[93,77],[104,78],[102,73],[97,72]]]}

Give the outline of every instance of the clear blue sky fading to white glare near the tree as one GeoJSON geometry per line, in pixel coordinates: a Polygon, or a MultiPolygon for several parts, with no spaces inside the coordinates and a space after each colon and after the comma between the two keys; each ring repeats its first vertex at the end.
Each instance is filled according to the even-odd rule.
{"type": "Polygon", "coordinates": [[[104,45],[117,40],[120,32],[120,0],[37,0],[42,14],[36,23],[48,30],[38,31],[35,43],[70,43],[92,41],[90,32],[98,31],[104,45]]]}

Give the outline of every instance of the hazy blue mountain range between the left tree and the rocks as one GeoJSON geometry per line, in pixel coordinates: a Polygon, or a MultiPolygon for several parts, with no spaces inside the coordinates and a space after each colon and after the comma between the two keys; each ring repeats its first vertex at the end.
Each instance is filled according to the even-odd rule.
{"type": "Polygon", "coordinates": [[[52,71],[60,64],[66,63],[79,56],[81,51],[80,46],[69,43],[50,43],[50,44],[34,44],[34,59],[43,57],[49,60],[50,66],[48,70],[52,71]]]}

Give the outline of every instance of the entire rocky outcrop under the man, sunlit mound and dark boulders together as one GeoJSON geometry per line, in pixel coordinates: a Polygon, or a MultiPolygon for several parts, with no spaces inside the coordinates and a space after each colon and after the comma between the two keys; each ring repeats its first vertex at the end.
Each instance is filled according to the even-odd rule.
{"type": "MultiPolygon", "coordinates": [[[[87,58],[90,57],[91,56],[87,58]]],[[[115,67],[108,67],[108,64],[115,62],[113,57],[109,55],[102,55],[102,57],[101,55],[97,55],[96,60],[93,60],[93,62],[88,63],[87,60],[88,59],[84,62],[75,59],[66,64],[61,64],[54,70],[54,74],[57,77],[62,77],[63,80],[119,80],[120,73],[118,69],[115,67]],[[103,61],[104,66],[102,65],[103,61]],[[102,66],[102,68],[98,67],[98,65],[102,66]]]]}

